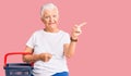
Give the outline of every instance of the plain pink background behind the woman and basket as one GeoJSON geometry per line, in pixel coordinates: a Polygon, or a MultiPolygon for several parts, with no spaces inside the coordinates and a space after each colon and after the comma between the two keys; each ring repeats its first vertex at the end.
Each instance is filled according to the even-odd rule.
{"type": "Polygon", "coordinates": [[[75,55],[68,60],[70,76],[131,76],[130,0],[0,0],[0,76],[3,55],[23,51],[32,33],[44,27],[39,9],[47,2],[58,5],[63,30],[87,22],[75,55]]]}

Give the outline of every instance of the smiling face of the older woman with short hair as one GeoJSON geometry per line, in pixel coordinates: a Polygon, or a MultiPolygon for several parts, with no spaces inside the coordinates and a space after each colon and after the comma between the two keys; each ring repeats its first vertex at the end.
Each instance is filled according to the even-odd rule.
{"type": "Polygon", "coordinates": [[[58,15],[58,11],[56,9],[45,10],[41,21],[44,22],[46,27],[53,28],[53,27],[57,27],[57,25],[58,25],[58,18],[59,18],[59,15],[58,15]]]}

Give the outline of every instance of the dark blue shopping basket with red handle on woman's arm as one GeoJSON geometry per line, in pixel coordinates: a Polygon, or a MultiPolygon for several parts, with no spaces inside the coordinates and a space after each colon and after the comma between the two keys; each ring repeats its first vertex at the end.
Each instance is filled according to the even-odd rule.
{"type": "Polygon", "coordinates": [[[33,76],[33,66],[28,63],[7,63],[8,55],[12,54],[31,54],[25,52],[12,52],[4,55],[5,76],[33,76]]]}

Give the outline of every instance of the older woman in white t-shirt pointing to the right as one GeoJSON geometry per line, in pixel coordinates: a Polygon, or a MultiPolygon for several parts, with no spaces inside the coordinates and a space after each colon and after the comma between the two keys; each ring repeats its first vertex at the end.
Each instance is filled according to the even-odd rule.
{"type": "Polygon", "coordinates": [[[45,28],[35,31],[26,42],[23,56],[25,62],[34,63],[34,76],[69,76],[66,58],[74,54],[78,37],[81,34],[82,23],[75,25],[71,36],[58,27],[58,8],[48,3],[41,7],[40,20],[45,28]]]}

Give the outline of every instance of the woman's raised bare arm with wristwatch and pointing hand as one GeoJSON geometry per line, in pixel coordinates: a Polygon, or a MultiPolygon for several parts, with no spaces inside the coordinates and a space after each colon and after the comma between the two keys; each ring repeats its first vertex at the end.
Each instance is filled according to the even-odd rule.
{"type": "Polygon", "coordinates": [[[67,58],[71,58],[74,52],[75,52],[75,47],[76,47],[76,41],[78,41],[78,38],[79,38],[79,35],[82,34],[82,30],[81,30],[81,27],[83,25],[85,25],[86,23],[82,23],[80,25],[75,25],[72,29],[72,33],[71,33],[71,42],[70,43],[66,43],[63,46],[63,51],[64,51],[64,55],[67,58]]]}

